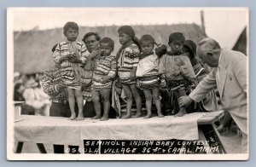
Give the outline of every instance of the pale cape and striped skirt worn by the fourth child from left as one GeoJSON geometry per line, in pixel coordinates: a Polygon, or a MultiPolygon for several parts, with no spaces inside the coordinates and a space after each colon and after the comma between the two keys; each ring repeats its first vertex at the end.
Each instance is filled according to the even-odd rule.
{"type": "Polygon", "coordinates": [[[159,78],[159,58],[154,53],[150,55],[140,55],[136,76],[138,87],[141,89],[153,89],[160,85],[159,78]]]}

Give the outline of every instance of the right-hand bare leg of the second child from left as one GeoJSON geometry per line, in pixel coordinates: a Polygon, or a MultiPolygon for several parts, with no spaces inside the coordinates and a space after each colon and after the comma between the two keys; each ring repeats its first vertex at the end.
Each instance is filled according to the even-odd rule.
{"type": "Polygon", "coordinates": [[[103,107],[104,107],[104,113],[101,118],[101,121],[106,121],[108,120],[108,113],[110,110],[110,102],[109,102],[110,89],[102,89],[100,93],[102,95],[103,107]]]}

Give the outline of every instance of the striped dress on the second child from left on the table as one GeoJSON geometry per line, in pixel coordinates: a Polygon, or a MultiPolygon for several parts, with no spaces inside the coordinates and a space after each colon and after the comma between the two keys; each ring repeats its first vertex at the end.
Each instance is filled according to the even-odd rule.
{"type": "Polygon", "coordinates": [[[111,89],[115,75],[116,59],[114,55],[96,57],[92,74],[91,89],[111,89]],[[106,76],[110,77],[111,79],[107,83],[102,83],[102,77],[106,76]]]}

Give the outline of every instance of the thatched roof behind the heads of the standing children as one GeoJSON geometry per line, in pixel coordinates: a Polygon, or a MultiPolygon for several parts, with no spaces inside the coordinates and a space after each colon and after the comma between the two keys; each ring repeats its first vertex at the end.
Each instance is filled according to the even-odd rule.
{"type": "MultiPolygon", "coordinates": [[[[151,34],[157,43],[167,44],[169,34],[172,32],[183,32],[186,39],[191,39],[198,43],[204,38],[200,26],[195,24],[177,24],[177,25],[155,25],[155,26],[132,26],[137,37],[144,34],[151,34]]],[[[98,32],[101,37],[112,37],[115,41],[113,54],[120,47],[118,40],[119,26],[98,26],[98,27],[80,27],[79,38],[86,32],[98,32]]],[[[43,72],[54,66],[51,60],[51,49],[55,43],[65,41],[62,34],[62,28],[55,28],[44,31],[15,32],[15,72],[43,72]]]]}

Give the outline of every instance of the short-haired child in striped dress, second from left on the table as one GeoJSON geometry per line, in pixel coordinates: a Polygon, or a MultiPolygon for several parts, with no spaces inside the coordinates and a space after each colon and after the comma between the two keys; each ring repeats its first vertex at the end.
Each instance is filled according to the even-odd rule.
{"type": "Polygon", "coordinates": [[[101,118],[100,95],[102,96],[104,113],[101,121],[108,120],[108,112],[110,109],[109,95],[112,87],[112,81],[116,74],[115,56],[113,52],[114,43],[109,37],[104,37],[100,41],[101,56],[95,58],[93,67],[91,95],[93,105],[95,107],[96,116],[94,119],[101,118]]]}

